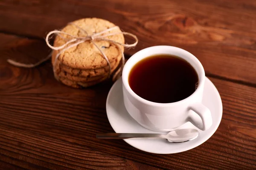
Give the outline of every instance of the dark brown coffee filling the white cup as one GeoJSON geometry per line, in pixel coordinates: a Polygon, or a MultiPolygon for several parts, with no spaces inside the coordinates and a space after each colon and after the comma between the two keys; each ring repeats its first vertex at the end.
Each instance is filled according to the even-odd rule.
{"type": "Polygon", "coordinates": [[[130,71],[128,82],[138,96],[151,102],[186,99],[198,85],[198,74],[186,60],[168,54],[146,57],[130,71]]]}

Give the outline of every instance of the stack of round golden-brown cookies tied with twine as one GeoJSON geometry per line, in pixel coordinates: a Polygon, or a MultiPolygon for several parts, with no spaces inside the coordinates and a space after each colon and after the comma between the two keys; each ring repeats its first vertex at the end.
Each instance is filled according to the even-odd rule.
{"type": "MultiPolygon", "coordinates": [[[[114,26],[113,23],[107,20],[85,18],[74,21],[73,24],[67,25],[61,31],[76,37],[84,37],[102,32],[114,26]]],[[[121,32],[121,30],[116,28],[102,35],[116,32],[121,32]]],[[[105,38],[122,44],[125,42],[123,34],[111,35],[105,38]]],[[[54,46],[58,47],[64,45],[70,39],[72,39],[72,37],[69,35],[58,34],[55,38],[54,46]]],[[[102,50],[105,56],[108,57],[111,65],[110,74],[113,74],[119,67],[124,47],[104,40],[95,40],[94,43],[102,50]]],[[[91,41],[85,41],[64,51],[53,51],[52,65],[55,78],[73,88],[96,85],[107,79],[110,71],[108,62],[91,41]],[[58,58],[56,59],[57,55],[58,58]]]]}

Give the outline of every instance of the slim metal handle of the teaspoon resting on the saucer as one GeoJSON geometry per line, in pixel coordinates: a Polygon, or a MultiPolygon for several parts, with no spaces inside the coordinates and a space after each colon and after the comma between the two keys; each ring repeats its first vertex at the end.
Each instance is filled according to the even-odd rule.
{"type": "Polygon", "coordinates": [[[129,138],[165,138],[165,135],[158,133],[99,133],[98,139],[129,139],[129,138]]]}

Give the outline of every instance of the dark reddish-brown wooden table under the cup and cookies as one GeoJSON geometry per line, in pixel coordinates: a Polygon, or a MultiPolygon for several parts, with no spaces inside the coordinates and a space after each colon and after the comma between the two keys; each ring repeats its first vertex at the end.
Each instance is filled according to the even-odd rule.
{"type": "MultiPolygon", "coordinates": [[[[130,40],[128,40],[129,42],[130,40]]],[[[1,0],[0,169],[256,169],[255,0],[1,0]],[[200,146],[169,155],[146,153],[113,132],[105,102],[112,82],[73,89],[57,82],[47,32],[83,17],[110,20],[136,34],[136,48],[173,45],[194,54],[223,102],[218,130],[200,146]]]]}

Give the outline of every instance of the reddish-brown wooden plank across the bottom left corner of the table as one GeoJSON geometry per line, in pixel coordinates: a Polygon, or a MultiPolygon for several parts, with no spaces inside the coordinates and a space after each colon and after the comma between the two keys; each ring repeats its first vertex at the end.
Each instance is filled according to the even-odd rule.
{"type": "Polygon", "coordinates": [[[0,127],[0,167],[30,170],[159,170],[138,162],[68,142],[41,136],[28,130],[0,127]],[[1,164],[1,162],[9,164],[1,164]]]}

